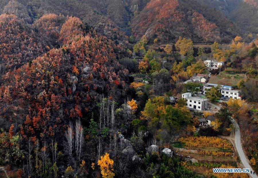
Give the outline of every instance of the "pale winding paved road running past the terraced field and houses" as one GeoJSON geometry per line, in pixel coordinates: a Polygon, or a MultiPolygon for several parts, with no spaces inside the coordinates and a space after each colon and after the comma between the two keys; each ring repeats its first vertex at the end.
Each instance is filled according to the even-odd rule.
{"type": "MultiPolygon", "coordinates": [[[[213,103],[210,103],[208,102],[209,105],[212,105],[218,109],[220,109],[219,106],[217,105],[214,105],[213,103]]],[[[243,151],[243,148],[242,148],[242,145],[241,145],[241,136],[240,136],[240,129],[239,129],[239,126],[237,124],[237,122],[231,117],[231,121],[232,123],[234,124],[234,126],[236,127],[236,130],[235,130],[235,145],[236,145],[236,151],[240,157],[240,160],[241,162],[243,163],[244,165],[244,168],[249,168],[250,169],[250,172],[252,171],[252,174],[249,173],[249,176],[251,176],[252,178],[258,178],[257,177],[257,173],[255,173],[255,175],[253,174],[253,169],[252,167],[249,165],[249,163],[247,162],[247,159],[246,159],[246,156],[245,156],[245,153],[243,151]]]]}

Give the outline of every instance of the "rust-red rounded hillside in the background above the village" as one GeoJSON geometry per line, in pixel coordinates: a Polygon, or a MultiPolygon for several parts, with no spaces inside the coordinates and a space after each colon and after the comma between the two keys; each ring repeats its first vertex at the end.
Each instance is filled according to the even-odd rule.
{"type": "Polygon", "coordinates": [[[133,35],[138,39],[175,41],[180,35],[194,42],[228,42],[239,29],[222,13],[199,1],[153,0],[132,20],[133,35]]]}

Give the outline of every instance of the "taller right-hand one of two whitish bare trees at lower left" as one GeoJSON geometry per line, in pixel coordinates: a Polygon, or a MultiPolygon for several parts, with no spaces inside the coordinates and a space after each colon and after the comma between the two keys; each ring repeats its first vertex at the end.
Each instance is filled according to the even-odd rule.
{"type": "Polygon", "coordinates": [[[76,150],[76,158],[77,160],[81,159],[81,151],[84,144],[83,139],[83,128],[81,125],[81,121],[78,119],[75,123],[75,150],[76,150]]]}

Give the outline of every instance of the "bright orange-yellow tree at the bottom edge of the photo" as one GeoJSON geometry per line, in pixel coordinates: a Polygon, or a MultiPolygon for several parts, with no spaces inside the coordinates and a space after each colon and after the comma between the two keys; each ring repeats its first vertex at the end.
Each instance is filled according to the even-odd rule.
{"type": "Polygon", "coordinates": [[[104,156],[100,157],[100,160],[98,160],[98,165],[100,166],[101,175],[103,178],[113,178],[115,176],[113,166],[114,161],[110,159],[109,154],[105,153],[104,156]]]}

